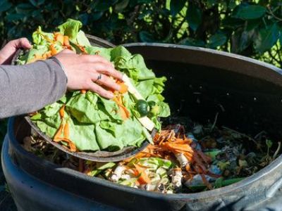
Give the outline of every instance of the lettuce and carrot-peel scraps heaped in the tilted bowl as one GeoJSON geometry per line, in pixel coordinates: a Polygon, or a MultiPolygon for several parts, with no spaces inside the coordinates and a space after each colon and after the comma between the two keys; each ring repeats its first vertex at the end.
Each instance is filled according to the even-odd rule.
{"type": "Polygon", "coordinates": [[[161,95],[166,77],[156,77],[140,54],[133,55],[123,46],[109,49],[92,46],[81,27],[80,21],[72,19],[52,33],[38,27],[32,34],[32,49],[20,55],[17,63],[45,60],[63,49],[71,49],[78,54],[99,54],[106,58],[123,73],[127,82],[111,78],[121,86],[120,91],[109,89],[114,93],[111,100],[92,91],[68,91],[56,103],[32,113],[30,119],[69,151],[112,152],[129,146],[140,147],[148,138],[147,129],[161,129],[159,117],[170,115],[169,106],[161,95]],[[135,93],[142,96],[146,105],[147,101],[153,101],[159,108],[157,112],[155,107],[145,108],[146,105],[140,109],[135,93]]]}

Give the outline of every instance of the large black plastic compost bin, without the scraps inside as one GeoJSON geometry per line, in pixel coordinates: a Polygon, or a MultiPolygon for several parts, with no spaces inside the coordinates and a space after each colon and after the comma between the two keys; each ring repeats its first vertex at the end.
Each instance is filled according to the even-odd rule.
{"type": "MultiPolygon", "coordinates": [[[[92,42],[97,40],[92,39],[92,42]]],[[[103,41],[102,46],[109,46],[103,41]]],[[[166,75],[171,110],[192,120],[281,140],[282,77],[272,65],[230,53],[169,44],[128,44],[149,68],[166,75]]],[[[281,210],[282,157],[236,184],[202,193],[162,194],[88,177],[28,153],[21,146],[30,127],[8,123],[2,165],[18,210],[281,210]]]]}

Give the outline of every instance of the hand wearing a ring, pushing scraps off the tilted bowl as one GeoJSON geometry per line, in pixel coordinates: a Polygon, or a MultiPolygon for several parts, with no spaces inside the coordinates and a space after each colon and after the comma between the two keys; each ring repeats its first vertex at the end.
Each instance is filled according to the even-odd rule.
{"type": "Polygon", "coordinates": [[[56,55],[63,64],[68,77],[68,89],[87,89],[105,98],[113,98],[114,94],[103,87],[119,90],[116,79],[123,75],[115,70],[114,65],[98,55],[78,55],[70,50],[63,50],[56,55]]]}

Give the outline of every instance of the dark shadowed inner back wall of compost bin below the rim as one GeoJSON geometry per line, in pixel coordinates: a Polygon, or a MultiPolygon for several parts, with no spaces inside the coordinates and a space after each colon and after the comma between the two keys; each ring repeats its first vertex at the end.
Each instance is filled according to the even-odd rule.
{"type": "MultiPolygon", "coordinates": [[[[282,87],[264,79],[204,65],[146,60],[157,76],[168,79],[164,96],[173,117],[281,138],[282,87]]],[[[269,70],[271,71],[271,70],[269,70]]],[[[167,121],[166,121],[167,122],[167,121]]],[[[168,121],[169,123],[169,121],[168,121]]]]}

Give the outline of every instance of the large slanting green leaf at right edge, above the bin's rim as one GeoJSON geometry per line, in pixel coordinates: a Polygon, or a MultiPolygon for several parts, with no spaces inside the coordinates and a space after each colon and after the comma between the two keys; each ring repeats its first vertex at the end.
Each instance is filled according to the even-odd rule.
{"type": "Polygon", "coordinates": [[[255,50],[261,54],[268,51],[272,46],[274,46],[274,44],[276,44],[278,37],[279,30],[276,23],[266,29],[259,30],[254,41],[255,50]]]}

